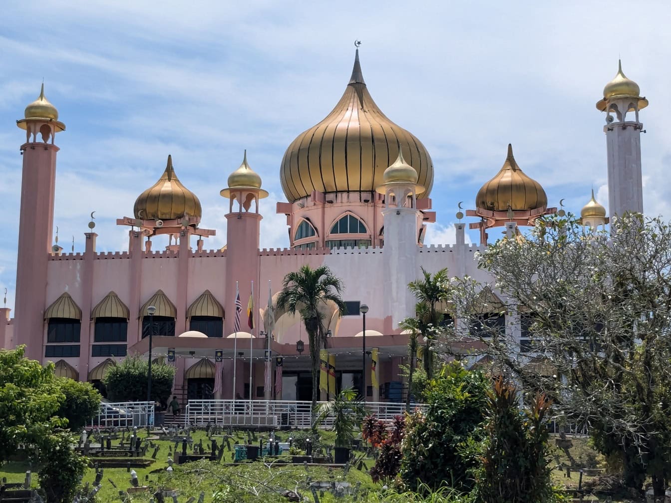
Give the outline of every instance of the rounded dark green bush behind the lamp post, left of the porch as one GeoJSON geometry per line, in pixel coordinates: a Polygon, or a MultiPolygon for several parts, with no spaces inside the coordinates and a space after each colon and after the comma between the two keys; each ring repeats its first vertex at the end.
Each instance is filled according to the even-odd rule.
{"type": "MultiPolygon", "coordinates": [[[[139,355],[126,357],[121,364],[107,371],[103,384],[107,398],[113,402],[143,402],[147,400],[149,365],[139,355]]],[[[174,367],[162,362],[152,364],[152,400],[166,402],[172,392],[174,367]]]]}

